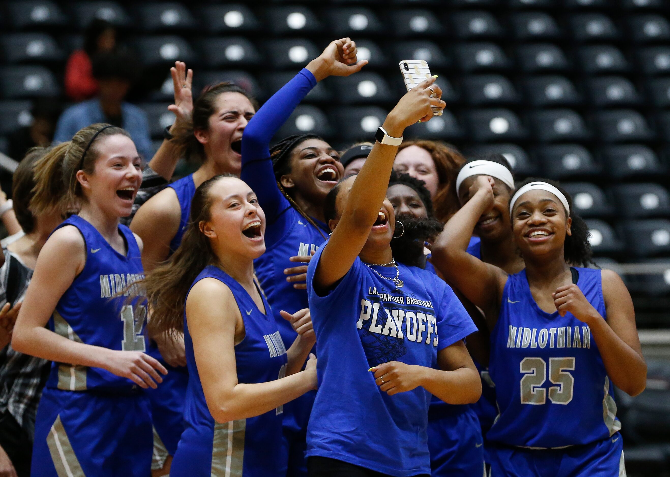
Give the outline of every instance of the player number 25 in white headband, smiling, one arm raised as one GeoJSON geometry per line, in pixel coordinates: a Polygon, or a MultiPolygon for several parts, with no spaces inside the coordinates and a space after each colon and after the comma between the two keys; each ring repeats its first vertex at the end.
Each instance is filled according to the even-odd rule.
{"type": "Polygon", "coordinates": [[[588,229],[552,181],[529,179],[510,201],[524,270],[507,274],[465,252],[493,187],[476,177],[433,247],[436,268],[496,310],[486,313],[499,409],[491,475],[625,475],[612,383],[636,395],[647,379],[630,294],[610,270],[570,266],[590,261],[588,229]]]}

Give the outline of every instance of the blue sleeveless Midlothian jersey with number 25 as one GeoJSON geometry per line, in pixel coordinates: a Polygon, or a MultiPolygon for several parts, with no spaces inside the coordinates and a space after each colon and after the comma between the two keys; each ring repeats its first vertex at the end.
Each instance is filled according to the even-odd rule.
{"type": "MultiPolygon", "coordinates": [[[[606,319],[600,270],[576,270],[580,290],[606,319]]],[[[572,313],[541,310],[525,270],[505,284],[489,371],[500,409],[491,441],[556,448],[604,440],[621,427],[590,328],[572,313]]]]}

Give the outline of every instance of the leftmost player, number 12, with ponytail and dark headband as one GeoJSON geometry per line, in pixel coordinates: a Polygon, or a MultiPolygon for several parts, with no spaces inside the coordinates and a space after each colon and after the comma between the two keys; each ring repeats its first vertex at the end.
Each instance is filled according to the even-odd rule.
{"type": "Polygon", "coordinates": [[[144,353],[145,309],[133,313],[118,296],[143,277],[141,240],[119,225],[140,165],[129,134],[109,124],[83,128],[36,164],[34,213],[78,213],[42,248],[13,333],[13,349],[53,361],[33,476],[150,472],[151,410],[140,388],[167,371],[144,353]]]}

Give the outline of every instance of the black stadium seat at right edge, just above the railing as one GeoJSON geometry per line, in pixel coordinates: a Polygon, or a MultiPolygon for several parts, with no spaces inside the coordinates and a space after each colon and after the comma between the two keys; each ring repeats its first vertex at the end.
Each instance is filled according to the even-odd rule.
{"type": "Polygon", "coordinates": [[[670,220],[628,220],[617,224],[626,250],[637,258],[670,254],[670,220]]]}

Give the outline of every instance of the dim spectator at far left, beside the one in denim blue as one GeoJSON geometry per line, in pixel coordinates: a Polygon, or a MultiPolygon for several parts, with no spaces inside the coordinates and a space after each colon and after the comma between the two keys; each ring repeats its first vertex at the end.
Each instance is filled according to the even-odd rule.
{"type": "Polygon", "coordinates": [[[62,104],[57,98],[36,98],[30,114],[30,126],[24,126],[9,136],[9,157],[20,161],[32,147],[47,147],[54,140],[54,131],[62,104]]]}

